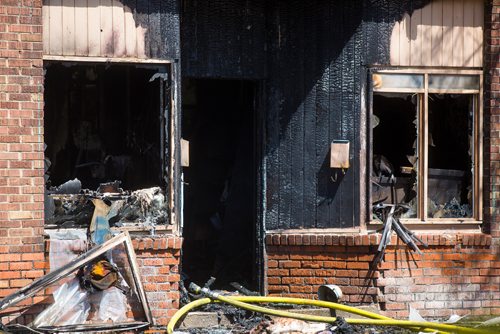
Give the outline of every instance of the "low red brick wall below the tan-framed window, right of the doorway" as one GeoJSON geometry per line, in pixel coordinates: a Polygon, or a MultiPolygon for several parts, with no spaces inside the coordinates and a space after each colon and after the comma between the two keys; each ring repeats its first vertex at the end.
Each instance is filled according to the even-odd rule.
{"type": "Polygon", "coordinates": [[[343,302],[378,304],[385,315],[407,318],[500,313],[500,248],[486,234],[429,234],[419,255],[393,236],[374,270],[379,235],[268,235],[270,295],[317,298],[322,284],[339,285],[343,302]]]}

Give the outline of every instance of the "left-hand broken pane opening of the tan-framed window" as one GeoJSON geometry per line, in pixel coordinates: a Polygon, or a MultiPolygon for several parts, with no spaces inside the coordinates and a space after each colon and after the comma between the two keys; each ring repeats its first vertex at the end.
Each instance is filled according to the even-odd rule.
{"type": "MultiPolygon", "coordinates": [[[[417,214],[417,108],[415,94],[377,93],[373,97],[372,201],[408,206],[417,214]]],[[[373,219],[382,217],[374,216],[373,219]]]]}

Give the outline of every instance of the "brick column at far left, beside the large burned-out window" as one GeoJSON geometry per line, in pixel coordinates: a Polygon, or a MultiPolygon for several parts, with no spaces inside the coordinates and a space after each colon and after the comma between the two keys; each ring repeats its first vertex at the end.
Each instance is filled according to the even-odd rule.
{"type": "Polygon", "coordinates": [[[0,298],[44,273],[41,14],[0,1],[0,298]]]}

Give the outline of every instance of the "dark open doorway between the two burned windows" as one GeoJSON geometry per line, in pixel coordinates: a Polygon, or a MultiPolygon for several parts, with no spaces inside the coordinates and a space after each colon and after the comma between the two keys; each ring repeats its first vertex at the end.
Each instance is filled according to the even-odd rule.
{"type": "Polygon", "coordinates": [[[182,136],[190,142],[184,169],[183,272],[213,287],[255,289],[255,83],[186,79],[182,136]]]}

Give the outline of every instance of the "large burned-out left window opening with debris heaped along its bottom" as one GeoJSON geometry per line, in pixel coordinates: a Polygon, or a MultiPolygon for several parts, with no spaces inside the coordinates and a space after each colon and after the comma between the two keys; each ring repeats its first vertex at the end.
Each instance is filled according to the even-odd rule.
{"type": "Polygon", "coordinates": [[[167,223],[168,65],[45,65],[46,228],[167,223]]]}

